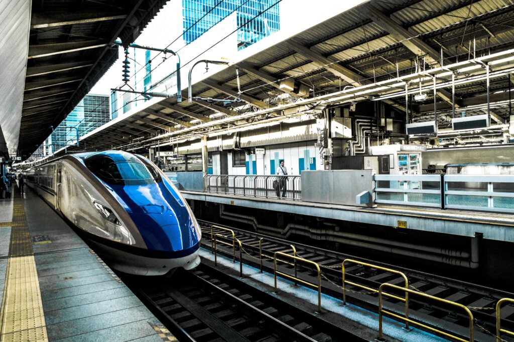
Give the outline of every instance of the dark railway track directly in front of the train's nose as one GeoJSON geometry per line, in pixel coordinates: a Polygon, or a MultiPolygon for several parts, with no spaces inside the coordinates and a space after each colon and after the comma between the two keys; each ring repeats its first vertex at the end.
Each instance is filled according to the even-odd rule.
{"type": "Polygon", "coordinates": [[[180,341],[361,340],[207,265],[127,283],[180,341]]]}

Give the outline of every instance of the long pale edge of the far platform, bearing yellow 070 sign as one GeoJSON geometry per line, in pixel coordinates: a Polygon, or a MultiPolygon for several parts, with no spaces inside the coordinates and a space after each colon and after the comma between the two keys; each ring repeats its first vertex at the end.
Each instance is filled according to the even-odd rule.
{"type": "Polygon", "coordinates": [[[181,191],[181,193],[187,199],[221,205],[458,236],[473,237],[475,233],[480,232],[485,239],[514,241],[514,214],[508,213],[442,210],[399,205],[378,205],[371,208],[199,191],[181,191]]]}

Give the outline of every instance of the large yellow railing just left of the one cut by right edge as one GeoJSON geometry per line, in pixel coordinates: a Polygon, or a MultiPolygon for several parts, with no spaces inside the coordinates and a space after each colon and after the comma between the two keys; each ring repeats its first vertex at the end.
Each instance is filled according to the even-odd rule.
{"type": "Polygon", "coordinates": [[[384,313],[388,314],[388,315],[390,315],[392,317],[398,318],[400,320],[407,321],[407,322],[409,322],[411,324],[414,324],[414,325],[417,325],[419,327],[423,327],[424,329],[427,329],[427,330],[439,333],[439,334],[441,334],[443,336],[453,338],[453,339],[455,339],[457,341],[462,341],[462,342],[473,341],[473,314],[471,313],[471,311],[466,306],[464,306],[462,304],[455,303],[454,301],[450,301],[450,300],[434,297],[434,296],[431,296],[431,295],[426,294],[426,293],[416,292],[416,291],[411,290],[411,289],[406,289],[406,288],[402,288],[400,286],[384,283],[384,284],[380,285],[380,287],[378,288],[378,339],[379,340],[383,340],[382,316],[383,316],[384,313]],[[456,335],[449,334],[449,333],[447,333],[445,331],[442,331],[442,330],[438,330],[438,329],[432,328],[432,327],[427,326],[425,324],[418,323],[417,321],[409,319],[408,317],[402,317],[400,315],[397,315],[394,312],[383,310],[382,309],[382,295],[386,295],[386,293],[383,293],[383,289],[386,288],[386,287],[387,288],[391,288],[391,289],[395,289],[395,290],[398,290],[398,291],[405,291],[405,292],[408,292],[410,294],[414,294],[414,295],[417,295],[417,296],[420,296],[420,297],[424,297],[424,298],[428,298],[428,299],[431,299],[431,300],[438,301],[439,303],[444,303],[444,304],[448,304],[448,305],[451,305],[451,306],[463,309],[464,311],[466,311],[466,313],[468,314],[468,317],[469,317],[469,340],[460,338],[460,337],[458,337],[456,335]]]}

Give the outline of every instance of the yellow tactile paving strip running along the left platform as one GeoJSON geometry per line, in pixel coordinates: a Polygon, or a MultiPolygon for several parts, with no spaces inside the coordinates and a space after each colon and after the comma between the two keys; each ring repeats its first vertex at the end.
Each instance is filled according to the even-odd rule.
{"type": "Polygon", "coordinates": [[[38,272],[21,198],[14,198],[11,241],[0,309],[0,342],[48,341],[38,272]],[[28,255],[27,255],[28,254],[28,255]]]}

